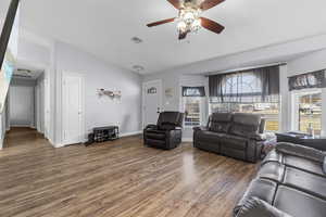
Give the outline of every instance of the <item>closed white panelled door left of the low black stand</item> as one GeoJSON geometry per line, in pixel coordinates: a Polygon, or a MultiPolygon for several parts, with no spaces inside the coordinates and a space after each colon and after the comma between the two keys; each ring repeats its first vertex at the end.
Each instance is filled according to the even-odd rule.
{"type": "Polygon", "coordinates": [[[76,144],[83,141],[83,77],[63,74],[62,114],[63,144],[76,144]]]}

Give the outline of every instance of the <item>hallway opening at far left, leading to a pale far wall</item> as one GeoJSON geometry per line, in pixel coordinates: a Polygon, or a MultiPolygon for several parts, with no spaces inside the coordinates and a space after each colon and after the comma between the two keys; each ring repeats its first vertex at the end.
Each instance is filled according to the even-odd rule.
{"type": "Polygon", "coordinates": [[[8,94],[8,129],[27,127],[45,133],[45,72],[17,67],[8,94]]]}

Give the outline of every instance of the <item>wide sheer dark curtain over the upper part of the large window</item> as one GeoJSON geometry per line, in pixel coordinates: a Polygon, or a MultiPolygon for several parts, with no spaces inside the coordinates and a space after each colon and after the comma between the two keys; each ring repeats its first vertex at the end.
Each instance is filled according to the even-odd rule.
{"type": "Polygon", "coordinates": [[[209,77],[211,102],[278,102],[279,67],[271,66],[209,77]]]}

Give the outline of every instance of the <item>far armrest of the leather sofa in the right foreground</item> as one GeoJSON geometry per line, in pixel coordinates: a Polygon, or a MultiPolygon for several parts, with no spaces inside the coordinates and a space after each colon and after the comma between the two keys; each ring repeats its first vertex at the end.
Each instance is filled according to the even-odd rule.
{"type": "Polygon", "coordinates": [[[312,159],[322,164],[324,164],[324,159],[326,157],[326,152],[322,152],[313,148],[303,146],[300,144],[287,143],[287,142],[277,143],[276,151],[289,155],[312,159]]]}

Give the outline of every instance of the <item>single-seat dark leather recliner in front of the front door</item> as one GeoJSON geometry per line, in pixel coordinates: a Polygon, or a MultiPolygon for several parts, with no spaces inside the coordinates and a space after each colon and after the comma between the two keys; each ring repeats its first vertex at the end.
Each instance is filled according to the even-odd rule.
{"type": "Polygon", "coordinates": [[[183,139],[183,113],[162,112],[156,125],[148,125],[143,129],[143,143],[165,150],[177,148],[183,139]]]}

